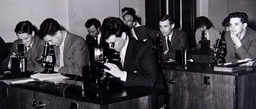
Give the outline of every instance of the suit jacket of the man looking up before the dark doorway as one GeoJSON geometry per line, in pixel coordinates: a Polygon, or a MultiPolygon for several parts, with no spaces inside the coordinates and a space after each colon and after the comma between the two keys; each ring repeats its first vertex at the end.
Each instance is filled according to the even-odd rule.
{"type": "Polygon", "coordinates": [[[180,31],[178,29],[173,29],[171,48],[169,48],[169,51],[166,54],[164,54],[164,52],[167,50],[165,36],[163,36],[161,34],[161,38],[163,40],[163,42],[162,42],[162,44],[163,44],[163,53],[162,53],[163,60],[168,60],[168,59],[175,60],[175,50],[180,50],[181,47],[184,49],[187,49],[188,39],[187,39],[187,33],[184,31],[180,31]]]}

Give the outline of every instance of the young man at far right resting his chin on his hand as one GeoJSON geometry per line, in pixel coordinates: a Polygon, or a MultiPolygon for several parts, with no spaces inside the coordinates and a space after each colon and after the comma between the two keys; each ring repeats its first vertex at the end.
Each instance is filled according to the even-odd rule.
{"type": "Polygon", "coordinates": [[[255,65],[256,31],[248,28],[248,15],[244,12],[229,14],[230,31],[225,34],[227,55],[226,62],[244,62],[244,65],[255,65]]]}

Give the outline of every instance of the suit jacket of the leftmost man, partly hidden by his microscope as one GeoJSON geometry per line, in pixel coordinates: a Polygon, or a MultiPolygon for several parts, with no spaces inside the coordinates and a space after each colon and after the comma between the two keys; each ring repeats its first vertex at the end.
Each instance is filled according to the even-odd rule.
{"type": "MultiPolygon", "coordinates": [[[[11,48],[11,52],[9,54],[9,56],[7,58],[4,59],[3,61],[3,68],[7,69],[8,68],[8,63],[10,61],[10,56],[12,55],[12,53],[17,53],[18,50],[16,49],[17,45],[19,43],[19,40],[15,40],[12,44],[12,48],[11,48]]],[[[26,53],[24,55],[24,57],[26,58],[26,70],[27,71],[41,71],[44,70],[44,68],[42,68],[41,64],[39,64],[38,62],[36,62],[36,60],[39,60],[39,56],[43,55],[44,53],[44,44],[45,41],[40,39],[37,35],[35,35],[33,37],[33,44],[31,47],[31,54],[30,56],[28,55],[28,53],[26,53]]]]}

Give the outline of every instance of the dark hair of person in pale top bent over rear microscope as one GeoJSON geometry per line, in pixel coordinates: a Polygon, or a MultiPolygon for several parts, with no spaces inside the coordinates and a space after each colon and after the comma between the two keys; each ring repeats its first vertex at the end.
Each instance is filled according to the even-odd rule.
{"type": "Polygon", "coordinates": [[[196,28],[201,28],[203,26],[206,26],[206,29],[210,29],[212,27],[211,22],[207,17],[198,17],[196,19],[196,28]]]}

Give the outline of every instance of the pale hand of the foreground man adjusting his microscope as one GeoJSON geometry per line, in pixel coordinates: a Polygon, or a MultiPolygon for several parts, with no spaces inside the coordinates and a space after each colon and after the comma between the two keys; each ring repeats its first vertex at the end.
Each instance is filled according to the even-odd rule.
{"type": "Polygon", "coordinates": [[[104,69],[105,72],[108,72],[117,78],[124,77],[124,72],[120,70],[116,64],[105,63],[104,65],[106,65],[110,69],[110,70],[104,69]]]}

